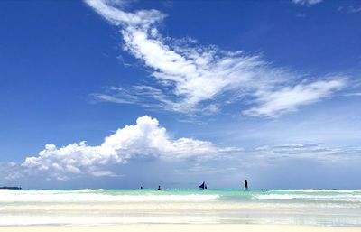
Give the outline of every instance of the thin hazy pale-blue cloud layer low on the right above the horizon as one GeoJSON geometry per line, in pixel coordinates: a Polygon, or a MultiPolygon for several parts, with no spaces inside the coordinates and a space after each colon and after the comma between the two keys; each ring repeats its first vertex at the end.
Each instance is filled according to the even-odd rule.
{"type": "MultiPolygon", "coordinates": [[[[347,166],[361,162],[361,147],[329,147],[322,144],[279,144],[250,147],[232,156],[224,157],[216,164],[212,162],[190,163],[176,172],[188,174],[262,172],[265,167],[278,167],[282,163],[319,162],[327,165],[347,166]],[[347,164],[347,165],[344,165],[347,164]],[[221,168],[220,168],[221,167],[221,168]]],[[[292,172],[290,170],[289,172],[292,172]]],[[[307,172],[307,168],[304,170],[307,172]]]]}

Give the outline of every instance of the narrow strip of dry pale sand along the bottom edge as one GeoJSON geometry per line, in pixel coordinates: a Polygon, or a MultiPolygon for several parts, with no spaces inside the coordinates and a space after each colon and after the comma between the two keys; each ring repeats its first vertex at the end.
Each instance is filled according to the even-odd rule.
{"type": "Polygon", "coordinates": [[[217,224],[217,225],[179,225],[179,224],[138,224],[116,226],[42,226],[42,227],[0,227],[4,232],[356,232],[361,227],[305,227],[305,226],[277,226],[277,225],[242,225],[242,224],[217,224]]]}

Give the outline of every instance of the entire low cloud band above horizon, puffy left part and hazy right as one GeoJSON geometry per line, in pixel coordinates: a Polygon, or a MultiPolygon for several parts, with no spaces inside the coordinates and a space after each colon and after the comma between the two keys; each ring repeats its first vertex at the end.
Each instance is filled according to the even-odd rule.
{"type": "Polygon", "coordinates": [[[187,137],[172,139],[156,118],[141,116],[135,125],[119,128],[100,145],[88,145],[85,141],[62,147],[46,144],[44,150],[20,164],[0,163],[0,174],[3,181],[31,177],[42,177],[47,181],[67,181],[82,176],[122,177],[124,174],[119,172],[125,165],[150,161],[187,163],[182,172],[219,173],[234,172],[239,167],[246,170],[272,166],[285,160],[352,163],[359,160],[360,152],[359,147],[320,144],[263,145],[245,149],[187,137]],[[219,166],[222,162],[227,165],[219,166]]]}

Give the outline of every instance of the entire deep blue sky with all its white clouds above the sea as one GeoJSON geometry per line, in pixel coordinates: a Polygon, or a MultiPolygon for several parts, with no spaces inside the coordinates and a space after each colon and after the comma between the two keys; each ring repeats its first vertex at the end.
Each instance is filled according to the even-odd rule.
{"type": "Polygon", "coordinates": [[[358,1],[2,1],[0,184],[359,188],[360,23],[358,1]]]}

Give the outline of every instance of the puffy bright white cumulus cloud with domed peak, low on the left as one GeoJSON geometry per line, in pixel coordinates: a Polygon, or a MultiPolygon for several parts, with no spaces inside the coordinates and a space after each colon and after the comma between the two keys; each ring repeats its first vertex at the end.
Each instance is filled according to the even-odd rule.
{"type": "Polygon", "coordinates": [[[211,159],[220,153],[235,151],[235,148],[219,148],[192,138],[172,140],[157,119],[142,116],[135,125],[118,129],[98,146],[90,146],[84,141],[60,148],[47,144],[37,156],[26,158],[22,166],[30,174],[47,173],[51,179],[66,180],[84,173],[116,176],[106,167],[132,159],[211,159]]]}

